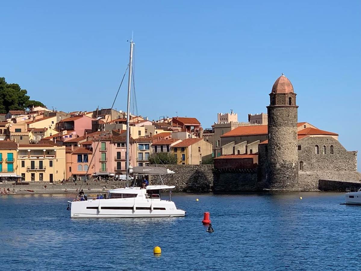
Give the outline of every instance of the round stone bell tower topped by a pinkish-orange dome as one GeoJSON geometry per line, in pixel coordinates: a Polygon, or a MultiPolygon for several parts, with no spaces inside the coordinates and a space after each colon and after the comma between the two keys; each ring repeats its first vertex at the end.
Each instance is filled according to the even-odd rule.
{"type": "Polygon", "coordinates": [[[270,189],[299,188],[296,93],[283,74],[270,93],[267,181],[270,189]]]}

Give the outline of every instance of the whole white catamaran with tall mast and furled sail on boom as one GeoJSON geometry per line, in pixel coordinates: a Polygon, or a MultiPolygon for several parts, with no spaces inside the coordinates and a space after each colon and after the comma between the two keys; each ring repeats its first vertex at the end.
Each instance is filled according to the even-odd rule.
{"type": "MultiPolygon", "coordinates": [[[[129,167],[129,116],[132,76],[133,41],[130,41],[127,135],[126,135],[126,180],[130,180],[129,167]]],[[[134,167],[134,175],[164,175],[171,172],[164,167],[134,167]]],[[[162,181],[163,183],[163,181],[162,181]]],[[[135,181],[134,181],[135,184],[135,181]]],[[[124,217],[184,217],[185,211],[177,209],[171,201],[171,189],[175,186],[148,185],[146,188],[125,187],[108,191],[106,198],[96,200],[68,201],[71,204],[71,218],[124,218],[124,217]],[[161,190],[169,190],[169,200],[161,199],[161,190]]]]}

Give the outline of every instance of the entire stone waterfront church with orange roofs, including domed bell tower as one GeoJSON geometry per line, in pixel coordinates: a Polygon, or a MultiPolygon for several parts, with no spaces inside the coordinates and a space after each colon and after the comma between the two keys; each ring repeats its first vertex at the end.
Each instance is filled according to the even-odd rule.
{"type": "Polygon", "coordinates": [[[319,180],[360,183],[357,151],[347,151],[336,133],[298,122],[296,93],[283,74],[267,109],[268,125],[238,127],[221,136],[215,191],[309,191],[318,189],[319,180]]]}

